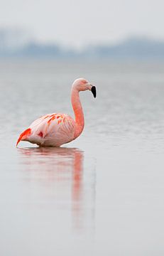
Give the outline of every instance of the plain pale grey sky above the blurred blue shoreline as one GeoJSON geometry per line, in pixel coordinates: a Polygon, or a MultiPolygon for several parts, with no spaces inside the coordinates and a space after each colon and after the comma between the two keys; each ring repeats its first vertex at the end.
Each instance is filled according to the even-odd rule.
{"type": "Polygon", "coordinates": [[[135,35],[164,39],[163,0],[5,0],[0,3],[1,27],[26,28],[40,41],[82,46],[113,43],[135,35]]]}

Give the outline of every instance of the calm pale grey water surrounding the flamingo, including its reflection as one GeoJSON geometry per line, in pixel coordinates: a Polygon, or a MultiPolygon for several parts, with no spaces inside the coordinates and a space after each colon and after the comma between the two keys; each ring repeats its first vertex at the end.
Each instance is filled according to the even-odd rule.
{"type": "Polygon", "coordinates": [[[0,63],[0,252],[163,255],[164,63],[0,63]],[[72,114],[84,77],[85,127],[59,149],[18,134],[49,112],[72,114]]]}

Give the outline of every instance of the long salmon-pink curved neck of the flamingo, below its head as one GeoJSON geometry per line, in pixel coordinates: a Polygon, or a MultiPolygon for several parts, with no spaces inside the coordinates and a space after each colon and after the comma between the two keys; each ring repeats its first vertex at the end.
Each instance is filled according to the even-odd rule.
{"type": "Polygon", "coordinates": [[[78,137],[84,128],[84,114],[82,111],[82,104],[80,102],[79,92],[74,87],[72,88],[72,92],[71,92],[71,102],[72,102],[72,107],[75,114],[75,122],[77,124],[75,137],[78,137]]]}

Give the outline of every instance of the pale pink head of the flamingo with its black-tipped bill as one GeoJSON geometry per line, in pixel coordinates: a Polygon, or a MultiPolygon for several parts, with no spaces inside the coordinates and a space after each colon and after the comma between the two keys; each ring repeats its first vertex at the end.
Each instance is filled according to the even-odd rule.
{"type": "Polygon", "coordinates": [[[84,90],[90,90],[94,97],[97,97],[96,87],[84,78],[76,79],[72,84],[72,89],[78,90],[79,92],[84,90]]]}

